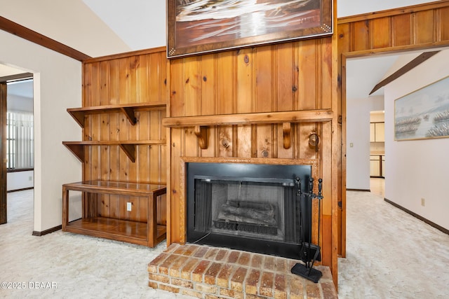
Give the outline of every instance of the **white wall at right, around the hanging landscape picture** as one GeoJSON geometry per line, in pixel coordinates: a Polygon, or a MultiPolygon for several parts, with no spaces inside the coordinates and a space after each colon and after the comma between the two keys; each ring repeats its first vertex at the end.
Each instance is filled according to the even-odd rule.
{"type": "Polygon", "coordinates": [[[449,50],[385,87],[385,197],[449,229],[449,138],[394,141],[394,100],[445,76],[449,76],[449,50]]]}

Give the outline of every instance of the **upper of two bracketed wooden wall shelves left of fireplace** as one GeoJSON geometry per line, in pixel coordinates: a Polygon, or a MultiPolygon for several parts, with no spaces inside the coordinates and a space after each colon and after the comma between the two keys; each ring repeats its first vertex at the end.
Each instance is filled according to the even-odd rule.
{"type": "Polygon", "coordinates": [[[137,119],[135,118],[135,111],[152,111],[165,110],[165,102],[147,102],[147,103],[133,103],[133,104],[115,104],[105,106],[88,106],[82,108],[69,108],[67,112],[76,120],[81,127],[84,127],[84,120],[87,114],[100,113],[116,113],[123,112],[132,125],[135,125],[137,119]]]}

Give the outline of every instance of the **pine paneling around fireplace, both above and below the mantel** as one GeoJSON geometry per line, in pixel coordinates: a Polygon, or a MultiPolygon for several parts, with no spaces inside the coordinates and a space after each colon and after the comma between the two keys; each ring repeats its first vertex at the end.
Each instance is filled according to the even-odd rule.
{"type": "MultiPolygon", "coordinates": [[[[195,116],[215,115],[225,119],[227,115],[241,113],[335,109],[334,43],[332,37],[326,37],[170,60],[168,117],[194,119],[195,116]]],[[[247,158],[267,164],[274,164],[276,159],[301,164],[309,159],[316,161],[319,177],[323,178],[325,198],[320,240],[323,264],[332,266],[335,257],[336,270],[335,228],[332,227],[333,205],[336,204],[336,200],[333,204],[332,188],[332,121],[291,123],[292,138],[288,148],[283,146],[282,123],[225,125],[213,121],[207,127],[208,147],[205,149],[199,146],[193,126],[170,127],[168,243],[185,242],[185,218],[181,212],[185,204],[183,159],[217,158],[226,162],[227,159],[247,158]],[[309,136],[315,132],[320,137],[318,148],[309,144],[309,136]]],[[[317,218],[314,221],[316,227],[317,218]]]]}

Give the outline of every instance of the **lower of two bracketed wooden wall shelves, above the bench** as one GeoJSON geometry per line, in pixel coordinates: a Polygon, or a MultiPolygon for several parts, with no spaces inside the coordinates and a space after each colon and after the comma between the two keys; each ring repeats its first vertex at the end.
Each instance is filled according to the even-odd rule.
{"type": "Polygon", "coordinates": [[[123,140],[123,141],[62,141],[69,151],[71,151],[76,158],[84,162],[84,148],[86,146],[119,146],[128,156],[128,158],[135,162],[135,146],[138,145],[165,145],[165,140],[123,140]]]}

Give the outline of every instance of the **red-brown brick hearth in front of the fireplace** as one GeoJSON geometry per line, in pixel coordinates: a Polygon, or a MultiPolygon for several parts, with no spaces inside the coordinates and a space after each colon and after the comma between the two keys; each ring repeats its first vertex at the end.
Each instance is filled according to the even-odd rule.
{"type": "Polygon", "coordinates": [[[171,244],[148,264],[148,286],[196,298],[338,298],[328,267],[317,284],[290,272],[297,260],[171,244]]]}

